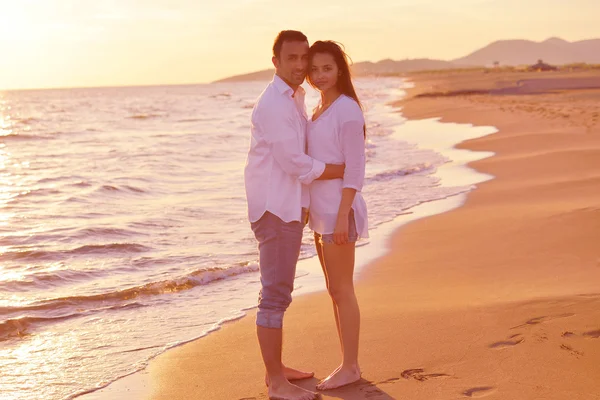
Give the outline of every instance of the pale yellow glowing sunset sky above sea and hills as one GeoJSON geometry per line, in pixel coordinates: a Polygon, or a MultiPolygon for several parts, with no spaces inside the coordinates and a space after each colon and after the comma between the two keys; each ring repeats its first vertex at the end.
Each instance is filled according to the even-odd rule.
{"type": "Polygon", "coordinates": [[[0,0],[0,89],[204,83],[270,68],[282,29],[355,62],[600,38],[599,0],[0,0]]]}

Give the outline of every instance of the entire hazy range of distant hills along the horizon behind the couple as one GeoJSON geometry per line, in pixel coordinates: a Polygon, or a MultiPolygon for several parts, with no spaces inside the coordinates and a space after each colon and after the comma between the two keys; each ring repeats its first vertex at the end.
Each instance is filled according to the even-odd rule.
{"type": "MultiPolygon", "coordinates": [[[[560,38],[550,38],[543,42],[531,40],[500,40],[493,42],[465,57],[452,61],[427,58],[378,62],[363,61],[352,66],[354,76],[394,75],[413,71],[440,70],[465,67],[489,67],[498,62],[506,65],[532,65],[538,60],[553,65],[572,63],[600,64],[600,39],[568,42],[560,38]]],[[[217,82],[240,82],[249,80],[269,80],[275,70],[266,69],[244,75],[236,75],[217,82]]]]}

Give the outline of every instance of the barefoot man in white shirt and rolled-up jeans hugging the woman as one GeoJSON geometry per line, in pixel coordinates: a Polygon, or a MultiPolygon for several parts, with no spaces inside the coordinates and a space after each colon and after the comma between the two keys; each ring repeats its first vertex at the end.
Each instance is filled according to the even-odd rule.
{"type": "Polygon", "coordinates": [[[304,89],[308,40],[282,31],[273,45],[273,81],[252,112],[252,138],[245,168],[248,216],[258,241],[261,291],[257,336],[267,370],[269,398],[310,400],[315,393],[290,380],[312,373],[287,368],[281,360],[283,315],[292,301],[296,263],[309,203],[307,185],[343,177],[343,165],[325,165],[305,154],[304,89]]]}

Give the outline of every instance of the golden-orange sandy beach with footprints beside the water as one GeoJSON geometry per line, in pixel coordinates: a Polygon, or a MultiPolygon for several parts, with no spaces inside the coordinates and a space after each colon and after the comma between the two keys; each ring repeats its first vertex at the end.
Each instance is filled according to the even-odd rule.
{"type": "MultiPolygon", "coordinates": [[[[470,166],[495,179],[398,230],[362,273],[363,379],[324,399],[600,399],[600,90],[579,78],[498,94],[523,78],[412,77],[407,118],[499,129],[459,146],[494,152],[470,166]]],[[[314,389],[340,360],[327,293],[295,299],[284,333],[314,389]]],[[[263,374],[250,313],[159,356],[145,381],[151,399],[249,400],[267,398],[263,374]]]]}

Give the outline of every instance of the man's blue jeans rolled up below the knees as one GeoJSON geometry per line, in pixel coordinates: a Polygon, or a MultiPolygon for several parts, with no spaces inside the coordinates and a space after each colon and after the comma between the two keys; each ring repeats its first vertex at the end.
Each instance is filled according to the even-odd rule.
{"type": "MultiPolygon", "coordinates": [[[[304,212],[302,221],[305,221],[304,212]]],[[[292,302],[304,222],[286,223],[267,211],[258,221],[251,223],[251,227],[258,240],[262,286],[256,324],[281,329],[283,314],[292,302]]]]}

